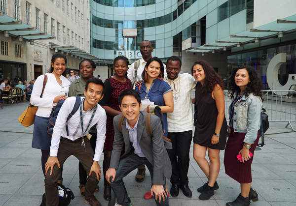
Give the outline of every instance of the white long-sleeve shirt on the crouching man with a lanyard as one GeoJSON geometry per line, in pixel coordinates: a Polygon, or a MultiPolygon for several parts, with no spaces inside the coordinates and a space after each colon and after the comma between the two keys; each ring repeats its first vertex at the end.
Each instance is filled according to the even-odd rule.
{"type": "MultiPolygon", "coordinates": [[[[84,97],[81,97],[81,100],[82,99],[84,99],[84,97]]],[[[79,107],[76,113],[68,121],[69,136],[67,136],[66,121],[69,114],[72,112],[74,108],[75,100],[76,100],[76,97],[68,97],[60,109],[55,126],[53,128],[53,134],[52,134],[51,146],[50,146],[50,156],[56,157],[58,155],[58,148],[60,145],[61,136],[69,140],[75,141],[78,138],[87,135],[89,129],[92,126],[94,126],[96,123],[98,123],[97,124],[97,143],[96,143],[95,155],[93,160],[99,161],[104,148],[104,143],[106,138],[105,136],[106,121],[107,121],[106,112],[98,104],[98,108],[93,117],[93,120],[89,125],[88,129],[86,130],[89,120],[93,114],[94,108],[91,110],[87,110],[85,112],[82,107],[83,130],[86,130],[86,131],[83,131],[84,132],[84,135],[83,135],[82,129],[81,129],[81,123],[80,123],[80,107],[79,107]],[[73,136],[75,132],[76,134],[75,136],[73,136]]]]}

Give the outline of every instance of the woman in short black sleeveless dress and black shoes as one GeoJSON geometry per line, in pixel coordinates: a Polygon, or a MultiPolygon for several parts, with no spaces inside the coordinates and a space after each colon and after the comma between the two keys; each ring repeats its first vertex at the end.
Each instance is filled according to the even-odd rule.
{"type": "Polygon", "coordinates": [[[191,72],[197,81],[195,108],[197,121],[193,137],[193,157],[208,181],[197,189],[200,200],[209,200],[219,189],[216,179],[220,171],[220,150],[226,143],[224,82],[214,68],[204,60],[195,61],[191,72]],[[206,160],[206,152],[210,163],[206,160]]]}

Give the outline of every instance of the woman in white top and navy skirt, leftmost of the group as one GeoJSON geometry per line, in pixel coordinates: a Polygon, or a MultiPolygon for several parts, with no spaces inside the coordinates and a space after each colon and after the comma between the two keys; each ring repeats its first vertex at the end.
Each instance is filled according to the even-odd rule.
{"type": "MultiPolygon", "coordinates": [[[[35,120],[32,147],[41,149],[41,166],[45,176],[45,163],[47,161],[51,136],[47,133],[48,119],[53,106],[60,99],[66,99],[71,82],[66,78],[67,59],[65,55],[57,53],[51,58],[51,66],[45,75],[47,83],[45,85],[42,98],[40,97],[44,75],[40,75],[31,94],[31,104],[38,107],[35,120]]],[[[62,179],[62,175],[61,178],[62,179]]]]}

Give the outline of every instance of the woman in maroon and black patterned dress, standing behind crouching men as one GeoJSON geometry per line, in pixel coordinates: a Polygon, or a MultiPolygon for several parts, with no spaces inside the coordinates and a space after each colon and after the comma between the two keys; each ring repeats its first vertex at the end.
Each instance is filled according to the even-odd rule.
{"type": "Polygon", "coordinates": [[[123,56],[118,56],[114,59],[114,70],[115,76],[108,78],[105,84],[105,94],[103,99],[100,101],[100,105],[106,110],[107,114],[107,129],[106,129],[106,140],[104,145],[104,161],[103,161],[103,172],[104,172],[104,199],[111,200],[111,187],[106,179],[106,171],[109,169],[111,152],[113,149],[114,141],[114,127],[113,118],[116,115],[121,114],[121,110],[118,105],[119,94],[129,88],[133,88],[132,82],[127,78],[128,59],[123,56]]]}

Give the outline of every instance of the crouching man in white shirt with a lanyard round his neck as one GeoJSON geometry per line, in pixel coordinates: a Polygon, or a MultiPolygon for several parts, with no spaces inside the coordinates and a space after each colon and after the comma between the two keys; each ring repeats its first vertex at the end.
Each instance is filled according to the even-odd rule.
{"type": "Polygon", "coordinates": [[[74,108],[76,97],[67,98],[61,107],[53,129],[50,155],[45,164],[46,206],[59,205],[57,180],[61,175],[61,167],[71,155],[74,155],[82,163],[88,174],[85,202],[91,206],[101,206],[94,196],[94,191],[101,178],[101,167],[98,162],[106,138],[107,117],[105,110],[98,104],[104,96],[104,91],[105,86],[102,80],[90,78],[86,82],[85,98],[81,98],[79,109],[68,121],[69,136],[67,136],[66,121],[74,108]],[[94,153],[86,135],[96,123],[98,123],[97,143],[94,153]]]}

